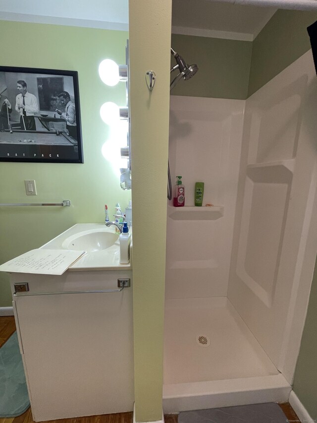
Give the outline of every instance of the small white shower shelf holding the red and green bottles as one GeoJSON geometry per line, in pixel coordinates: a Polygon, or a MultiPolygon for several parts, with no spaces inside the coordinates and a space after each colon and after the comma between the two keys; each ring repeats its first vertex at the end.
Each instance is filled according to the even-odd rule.
{"type": "Polygon", "coordinates": [[[223,206],[168,206],[167,215],[173,220],[216,220],[223,216],[223,206]]]}

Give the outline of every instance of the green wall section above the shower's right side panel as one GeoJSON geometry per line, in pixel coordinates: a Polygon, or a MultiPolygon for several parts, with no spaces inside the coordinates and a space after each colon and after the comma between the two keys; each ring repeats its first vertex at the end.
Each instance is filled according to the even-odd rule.
{"type": "Polygon", "coordinates": [[[277,10],[252,43],[248,97],[310,48],[307,27],[317,12],[277,10]]]}

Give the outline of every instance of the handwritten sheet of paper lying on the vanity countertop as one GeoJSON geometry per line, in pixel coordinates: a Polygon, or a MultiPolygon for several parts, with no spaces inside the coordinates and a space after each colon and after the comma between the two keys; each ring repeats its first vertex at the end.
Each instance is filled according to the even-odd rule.
{"type": "Polygon", "coordinates": [[[86,251],[41,249],[28,251],[0,265],[0,271],[62,275],[86,251]]]}

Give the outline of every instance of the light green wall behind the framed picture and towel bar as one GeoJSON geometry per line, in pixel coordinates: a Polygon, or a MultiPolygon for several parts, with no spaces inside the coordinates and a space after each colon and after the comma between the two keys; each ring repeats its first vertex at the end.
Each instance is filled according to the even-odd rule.
{"type": "MultiPolygon", "coordinates": [[[[0,263],[37,248],[75,223],[103,222],[131,191],[119,186],[118,169],[101,153],[109,128],[99,110],[105,101],[125,105],[125,85],[107,87],[101,60],[125,63],[128,33],[21,22],[0,23],[0,65],[77,70],[84,164],[0,163],[0,203],[60,202],[71,207],[0,207],[0,263]],[[36,181],[37,196],[26,196],[25,179],[36,181]]],[[[11,99],[14,104],[15,100],[11,99]]],[[[8,275],[0,272],[0,306],[12,305],[8,275]]]]}

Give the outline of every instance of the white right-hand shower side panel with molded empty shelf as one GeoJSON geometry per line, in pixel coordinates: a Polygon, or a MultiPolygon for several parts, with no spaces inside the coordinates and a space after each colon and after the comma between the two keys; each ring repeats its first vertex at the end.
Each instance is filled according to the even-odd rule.
{"type": "Polygon", "coordinates": [[[317,251],[316,113],[311,51],[246,101],[228,298],[289,383],[317,251]]]}

